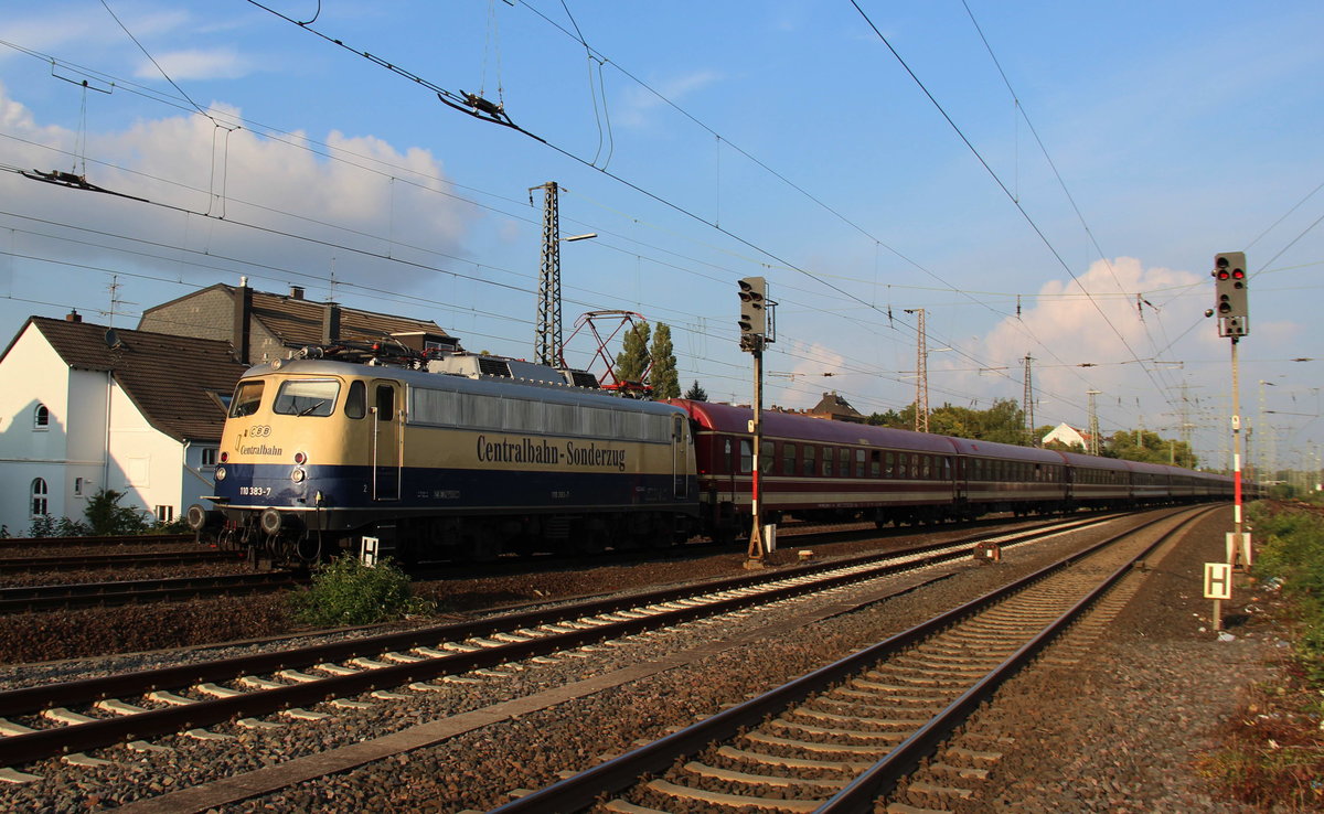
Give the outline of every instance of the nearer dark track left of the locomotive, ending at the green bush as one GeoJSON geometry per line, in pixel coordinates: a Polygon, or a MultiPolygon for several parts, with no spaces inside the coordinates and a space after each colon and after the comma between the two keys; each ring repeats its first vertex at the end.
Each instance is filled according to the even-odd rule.
{"type": "Polygon", "coordinates": [[[303,580],[291,572],[258,572],[212,577],[0,588],[0,614],[269,593],[301,584],[303,580]]]}

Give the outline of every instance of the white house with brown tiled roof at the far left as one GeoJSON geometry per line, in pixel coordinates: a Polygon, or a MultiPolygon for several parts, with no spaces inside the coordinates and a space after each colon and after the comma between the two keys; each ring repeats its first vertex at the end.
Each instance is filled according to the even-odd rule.
{"type": "Polygon", "coordinates": [[[230,343],[32,316],[0,356],[0,524],[81,520],[102,488],[169,521],[212,494],[230,343]]]}

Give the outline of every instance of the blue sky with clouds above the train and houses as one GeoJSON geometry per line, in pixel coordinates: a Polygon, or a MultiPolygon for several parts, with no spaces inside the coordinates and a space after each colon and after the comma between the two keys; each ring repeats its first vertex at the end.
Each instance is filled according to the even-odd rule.
{"type": "Polygon", "coordinates": [[[1247,462],[1319,466],[1316,1],[266,5],[0,0],[5,341],[246,277],[531,357],[556,181],[561,236],[597,234],[560,244],[575,367],[580,316],[629,311],[683,386],[749,402],[736,281],[764,277],[765,404],[903,409],[923,310],[931,408],[1021,401],[1029,356],[1037,425],[1087,428],[1096,390],[1103,433],[1215,467],[1210,269],[1246,251],[1247,462]]]}

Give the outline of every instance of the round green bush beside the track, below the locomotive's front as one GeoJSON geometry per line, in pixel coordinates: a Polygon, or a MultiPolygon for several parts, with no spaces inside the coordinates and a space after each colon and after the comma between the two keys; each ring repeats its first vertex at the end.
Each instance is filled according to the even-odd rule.
{"type": "Polygon", "coordinates": [[[319,565],[312,586],[290,601],[301,622],[322,627],[372,625],[436,610],[433,602],[412,596],[409,577],[389,559],[368,566],[352,555],[319,565]]]}

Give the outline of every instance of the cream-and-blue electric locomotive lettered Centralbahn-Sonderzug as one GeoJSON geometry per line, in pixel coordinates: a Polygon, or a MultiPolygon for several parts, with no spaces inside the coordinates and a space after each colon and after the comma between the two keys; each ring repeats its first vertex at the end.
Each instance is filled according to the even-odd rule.
{"type": "Polygon", "coordinates": [[[217,510],[191,524],[279,559],[364,539],[404,563],[670,545],[698,528],[687,416],[515,359],[306,348],[230,401],[217,510]]]}

